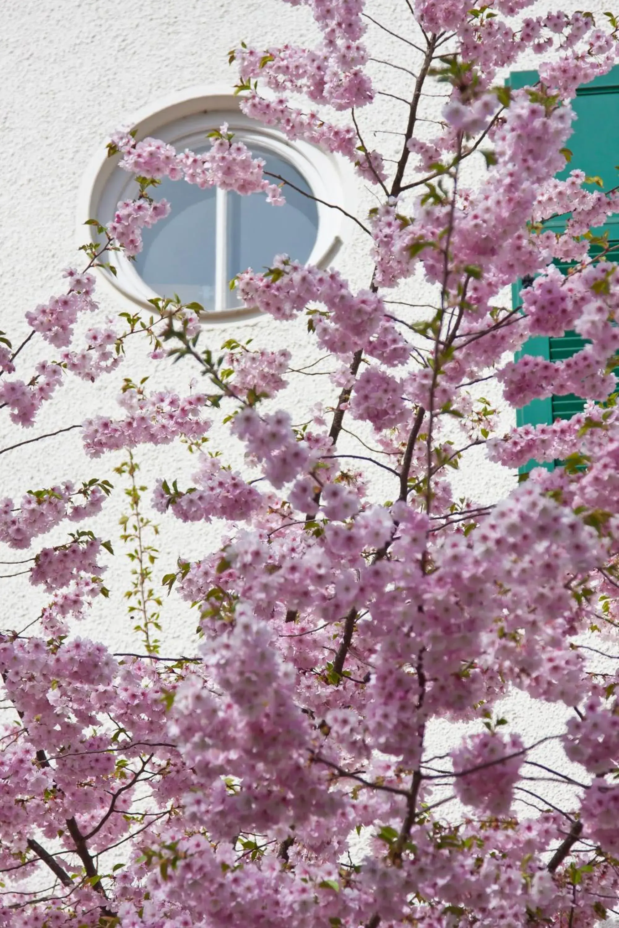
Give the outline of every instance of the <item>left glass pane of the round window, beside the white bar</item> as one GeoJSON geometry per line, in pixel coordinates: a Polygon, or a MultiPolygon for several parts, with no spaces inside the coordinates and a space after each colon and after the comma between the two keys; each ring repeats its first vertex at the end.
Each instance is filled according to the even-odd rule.
{"type": "Polygon", "coordinates": [[[172,210],[143,233],[144,248],[135,256],[142,279],[161,296],[177,293],[183,303],[197,301],[214,309],[215,190],[200,190],[167,177],[154,188],[155,200],[168,200],[172,210]]]}

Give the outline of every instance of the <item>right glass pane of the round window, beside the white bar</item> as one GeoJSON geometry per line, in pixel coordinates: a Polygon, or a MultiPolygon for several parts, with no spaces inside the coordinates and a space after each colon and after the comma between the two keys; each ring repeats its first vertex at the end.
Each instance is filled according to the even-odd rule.
{"type": "MultiPolygon", "coordinates": [[[[256,146],[252,146],[251,150],[255,157],[266,162],[265,172],[279,174],[295,187],[311,192],[303,176],[288,161],[256,146]]],[[[271,177],[266,179],[278,183],[271,177]]],[[[318,228],[316,202],[287,185],[283,187],[283,194],[285,206],[271,206],[261,194],[249,197],[228,194],[226,266],[229,279],[247,267],[254,271],[270,267],[276,254],[288,254],[302,262],[309,258],[318,228]]],[[[234,299],[234,294],[230,296],[234,299]]]]}

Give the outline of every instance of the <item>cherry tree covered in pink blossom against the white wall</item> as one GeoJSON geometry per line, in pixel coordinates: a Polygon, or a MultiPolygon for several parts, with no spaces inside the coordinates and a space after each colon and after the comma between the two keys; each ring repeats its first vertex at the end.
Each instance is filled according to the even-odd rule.
{"type": "Polygon", "coordinates": [[[395,26],[361,0],[303,2],[319,44],[240,46],[240,106],[337,152],[372,191],[377,205],[348,216],[367,285],[277,255],[235,286],[282,326],[306,320],[306,376],[329,375],[330,405],[287,398],[293,351],[220,352],[195,304],[161,298],[111,321],[98,309],[95,269],[135,256],[169,210],[161,178],[285,199],[285,178],[226,126],[206,154],[115,135],[139,196],[108,226],[93,218],[97,244],[27,314],[28,335],[2,336],[11,467],[50,437],[20,430],[62,402],[63,383],[115,370],[131,340],[148,340],[153,367],[173,354],[203,375],[183,396],[129,371],[120,412],[71,427],[92,458],[123,451],[114,481],[58,475],[0,503],[0,540],[18,555],[6,573],[19,565],[48,596],[39,615],[5,617],[0,638],[6,928],[585,928],[619,906],[619,276],[589,231],[619,201],[609,179],[594,192],[581,172],[555,179],[570,100],[613,66],[618,23],[527,18],[528,0],[406,0],[395,26]],[[399,59],[370,58],[368,23],[399,59]],[[510,89],[506,69],[531,51],[538,82],[510,89]],[[399,88],[401,125],[381,120],[377,73],[399,88]],[[382,130],[384,150],[369,150],[382,130]],[[561,232],[544,225],[568,211],[561,232]],[[524,277],[512,307],[506,288],[524,277]],[[513,360],[530,336],[566,329],[587,340],[573,358],[513,360]],[[48,359],[32,364],[36,342],[48,359]],[[589,402],[502,433],[481,393],[493,379],[510,406],[589,402]],[[242,447],[240,470],[206,444],[215,421],[242,447]],[[172,442],[194,453],[192,485],[161,475],[147,493],[135,448],[172,442]],[[565,466],[514,475],[498,502],[459,498],[449,475],[471,454],[514,474],[531,458],[565,466]],[[129,486],[135,654],[79,637],[109,594],[113,546],[89,520],[116,483],[129,486]],[[162,531],[216,520],[223,544],[161,576],[150,496],[162,531]],[[66,522],[66,542],[41,547],[66,522]],[[199,625],[189,654],[160,653],[170,591],[199,625]],[[511,725],[502,703],[518,690],[563,707],[557,730],[535,740],[511,725]],[[437,756],[443,720],[466,728],[437,756]]]}

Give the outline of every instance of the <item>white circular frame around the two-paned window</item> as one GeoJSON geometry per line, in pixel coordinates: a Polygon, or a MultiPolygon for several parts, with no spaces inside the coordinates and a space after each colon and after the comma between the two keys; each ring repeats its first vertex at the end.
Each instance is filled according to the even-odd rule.
{"type": "MultiPolygon", "coordinates": [[[[131,123],[136,130],[137,140],[153,136],[173,145],[179,151],[185,148],[196,148],[207,142],[206,134],[212,129],[218,129],[223,122],[227,122],[230,132],[239,136],[239,141],[251,147],[251,143],[266,151],[272,152],[283,161],[289,161],[303,175],[316,200],[332,203],[350,213],[352,202],[352,186],[350,175],[342,170],[340,156],[331,155],[313,145],[303,141],[290,142],[285,135],[270,126],[264,126],[256,120],[245,116],[239,110],[239,97],[230,93],[229,88],[208,86],[190,88],[166,97],[159,104],[141,110],[131,123]]],[[[91,162],[80,189],[78,198],[78,236],[80,244],[84,243],[84,231],[91,241],[97,241],[97,232],[94,226],[84,226],[87,219],[97,219],[105,226],[113,218],[116,204],[131,196],[131,187],[134,177],[119,168],[120,155],[109,158],[107,150],[97,152],[91,162]]],[[[269,179],[269,178],[267,178],[269,179]]],[[[186,183],[178,181],[178,183],[186,183]]],[[[277,181],[273,181],[277,183],[277,181]]],[[[283,187],[286,196],[286,185],[283,187]]],[[[156,191],[154,196],[157,196],[156,191]]],[[[252,194],[251,196],[264,196],[252,194]]],[[[334,259],[342,246],[342,239],[346,234],[346,226],[350,222],[340,210],[316,202],[318,213],[318,228],[316,242],[307,264],[316,264],[318,267],[327,267],[334,259]]],[[[273,209],[277,210],[277,206],[273,209]]],[[[218,217],[223,215],[222,210],[217,211],[218,217]]],[[[219,222],[219,220],[218,220],[219,222]]],[[[225,230],[217,229],[216,234],[223,234],[225,230]]],[[[117,275],[99,269],[99,273],[106,278],[115,290],[120,291],[124,297],[146,309],[152,309],[148,303],[156,297],[162,296],[151,290],[148,284],[139,276],[135,264],[129,261],[122,251],[112,252],[111,261],[117,268],[117,275]]],[[[261,268],[255,268],[261,270],[261,268]]],[[[221,288],[221,273],[219,285],[221,288]]],[[[221,304],[223,293],[217,293],[217,301],[221,304]]],[[[205,312],[203,319],[206,323],[227,322],[231,319],[255,319],[262,316],[257,308],[240,306],[237,308],[218,308],[205,312]]]]}

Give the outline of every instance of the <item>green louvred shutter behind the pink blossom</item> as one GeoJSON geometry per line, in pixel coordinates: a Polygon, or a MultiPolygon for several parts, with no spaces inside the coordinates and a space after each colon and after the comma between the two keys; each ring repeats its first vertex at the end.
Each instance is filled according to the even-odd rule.
{"type": "MultiPolygon", "coordinates": [[[[536,81],[536,71],[520,71],[509,78],[509,84],[515,89],[535,84],[536,81]]],[[[604,189],[610,189],[616,184],[615,165],[619,164],[619,66],[590,84],[579,87],[572,106],[577,116],[574,134],[567,141],[567,147],[572,151],[572,161],[557,176],[563,180],[570,171],[578,169],[589,177],[600,177],[604,189]]],[[[566,219],[567,216],[558,216],[550,220],[547,226],[560,232],[565,227],[566,219]]],[[[598,235],[608,232],[612,241],[619,240],[619,214],[611,216],[605,226],[594,229],[594,232],[598,235]]],[[[566,269],[566,265],[558,264],[561,270],[566,269]]],[[[512,287],[514,306],[519,303],[520,290],[521,284],[518,281],[512,287]]],[[[526,342],[516,359],[522,357],[522,354],[538,354],[551,361],[562,360],[580,351],[585,343],[575,332],[566,332],[561,338],[539,336],[526,342]]],[[[574,394],[534,400],[528,406],[516,410],[516,422],[518,425],[540,425],[554,422],[555,419],[571,419],[576,413],[582,412],[584,405],[585,400],[574,394]]],[[[542,466],[554,470],[557,463],[542,466]]],[[[535,466],[536,462],[531,460],[521,468],[521,472],[535,466]]]]}

